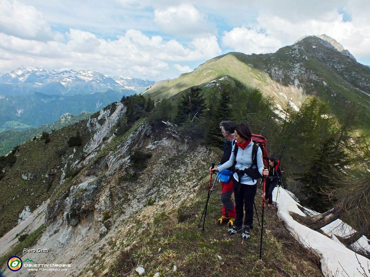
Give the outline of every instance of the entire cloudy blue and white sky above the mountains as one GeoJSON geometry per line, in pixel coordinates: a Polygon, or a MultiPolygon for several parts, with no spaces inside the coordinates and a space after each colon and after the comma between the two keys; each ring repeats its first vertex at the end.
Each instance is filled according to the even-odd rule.
{"type": "Polygon", "coordinates": [[[369,0],[0,0],[0,72],[92,69],[160,81],[231,51],[326,34],[370,65],[369,0]]]}

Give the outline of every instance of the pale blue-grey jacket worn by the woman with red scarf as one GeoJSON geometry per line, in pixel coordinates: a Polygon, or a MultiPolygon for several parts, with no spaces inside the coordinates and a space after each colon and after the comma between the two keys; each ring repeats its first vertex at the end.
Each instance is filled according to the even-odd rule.
{"type": "MultiPolygon", "coordinates": [[[[236,143],[236,142],[235,142],[236,143]]],[[[236,165],[235,169],[244,170],[245,168],[249,168],[252,165],[252,148],[253,148],[253,141],[251,140],[248,146],[245,149],[242,149],[241,147],[238,147],[238,154],[236,155],[236,165]]],[[[222,171],[224,169],[227,169],[231,167],[234,164],[235,160],[235,154],[234,154],[234,147],[232,148],[230,159],[220,165],[218,167],[218,171],[222,171]]],[[[258,171],[262,175],[263,170],[263,159],[262,159],[262,150],[260,147],[257,149],[257,166],[258,171]]],[[[233,175],[234,179],[236,181],[239,181],[238,174],[235,172],[233,175]]],[[[244,174],[242,178],[240,179],[241,184],[246,185],[254,185],[256,184],[257,180],[253,180],[252,177],[249,177],[248,175],[244,174]]]]}

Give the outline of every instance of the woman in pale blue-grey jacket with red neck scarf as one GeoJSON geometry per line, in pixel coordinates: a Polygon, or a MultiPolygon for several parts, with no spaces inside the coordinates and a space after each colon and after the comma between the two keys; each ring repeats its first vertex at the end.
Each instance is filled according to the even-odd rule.
{"type": "MultiPolygon", "coordinates": [[[[256,179],[252,179],[247,174],[240,173],[246,168],[250,168],[252,165],[252,148],[253,141],[251,140],[252,132],[246,123],[240,123],[235,126],[235,140],[238,146],[238,152],[236,155],[235,173],[233,174],[233,188],[235,197],[235,211],[236,217],[233,226],[229,229],[231,235],[242,231],[243,229],[243,217],[244,218],[244,229],[242,231],[243,238],[249,238],[250,230],[253,228],[253,203],[257,192],[256,179]],[[240,178],[239,178],[240,177],[240,178]]],[[[222,171],[226,168],[231,167],[234,164],[235,153],[234,148],[232,149],[229,160],[215,168],[209,168],[212,171],[222,171]]],[[[268,175],[268,169],[263,168],[262,161],[262,150],[258,147],[257,150],[257,169],[261,175],[268,175]]]]}

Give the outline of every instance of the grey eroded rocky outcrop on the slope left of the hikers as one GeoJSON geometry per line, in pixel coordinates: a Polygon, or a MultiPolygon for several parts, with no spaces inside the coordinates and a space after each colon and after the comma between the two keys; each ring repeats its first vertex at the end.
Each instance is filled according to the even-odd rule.
{"type": "Polygon", "coordinates": [[[115,137],[115,123],[124,111],[124,107],[118,103],[114,112],[102,111],[96,120],[89,120],[88,126],[94,130],[95,135],[84,147],[87,158],[75,165],[75,168],[82,169],[68,185],[67,191],[48,206],[47,224],[61,219],[67,226],[76,226],[92,213],[95,222],[100,223],[100,234],[104,235],[110,227],[106,220],[115,213],[117,206],[129,207],[125,209],[129,216],[133,211],[144,208],[148,198],[151,199],[149,202],[156,202],[166,194],[163,187],[153,182],[154,176],[161,178],[168,170],[158,161],[168,161],[188,151],[191,138],[168,122],[156,128],[144,122],[131,130],[128,136],[122,136],[125,138],[115,137]],[[109,116],[100,122],[104,114],[109,116]],[[107,139],[102,140],[102,137],[107,139]],[[113,140],[116,142],[111,147],[110,142],[113,140]],[[111,151],[106,151],[106,148],[111,151]],[[145,161],[147,167],[152,165],[153,172],[149,180],[145,172],[147,170],[135,168],[130,159],[135,149],[151,155],[151,159],[145,161]],[[101,152],[105,154],[99,154],[101,152]]]}

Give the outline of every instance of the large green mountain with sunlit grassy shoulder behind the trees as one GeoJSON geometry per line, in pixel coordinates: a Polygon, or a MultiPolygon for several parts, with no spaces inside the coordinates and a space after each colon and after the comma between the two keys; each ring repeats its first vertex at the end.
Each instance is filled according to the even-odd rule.
{"type": "Polygon", "coordinates": [[[359,107],[363,119],[359,128],[370,129],[370,97],[366,94],[370,94],[370,69],[315,40],[301,41],[271,54],[231,52],[176,79],[155,83],[145,93],[155,100],[175,99],[177,93],[191,86],[205,86],[224,76],[246,88],[259,88],[280,106],[286,106],[288,100],[299,106],[307,96],[314,95],[329,103],[339,118],[343,111],[359,107]]]}

